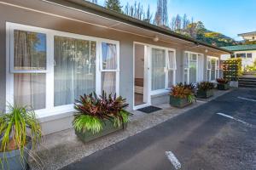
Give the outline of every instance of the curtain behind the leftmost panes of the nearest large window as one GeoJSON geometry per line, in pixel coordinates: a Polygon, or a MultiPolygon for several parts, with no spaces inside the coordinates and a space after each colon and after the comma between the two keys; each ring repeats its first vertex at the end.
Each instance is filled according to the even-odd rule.
{"type": "Polygon", "coordinates": [[[32,106],[34,110],[45,108],[45,73],[32,73],[46,69],[45,34],[18,31],[14,32],[14,68],[31,73],[14,74],[15,105],[32,106]]]}

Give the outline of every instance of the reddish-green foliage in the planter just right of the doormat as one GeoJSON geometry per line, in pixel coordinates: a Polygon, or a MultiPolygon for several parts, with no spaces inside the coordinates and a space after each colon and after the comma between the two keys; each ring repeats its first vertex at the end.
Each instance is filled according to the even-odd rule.
{"type": "Polygon", "coordinates": [[[175,98],[188,99],[189,102],[195,100],[195,86],[190,84],[178,83],[176,86],[172,86],[171,95],[175,98]]]}

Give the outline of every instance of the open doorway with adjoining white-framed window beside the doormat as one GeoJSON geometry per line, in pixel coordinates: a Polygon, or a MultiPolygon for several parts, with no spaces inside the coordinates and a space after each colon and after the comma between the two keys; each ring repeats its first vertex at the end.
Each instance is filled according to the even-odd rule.
{"type": "Polygon", "coordinates": [[[135,44],[134,109],[150,105],[151,95],[166,93],[176,83],[175,74],[174,49],[135,44]]]}

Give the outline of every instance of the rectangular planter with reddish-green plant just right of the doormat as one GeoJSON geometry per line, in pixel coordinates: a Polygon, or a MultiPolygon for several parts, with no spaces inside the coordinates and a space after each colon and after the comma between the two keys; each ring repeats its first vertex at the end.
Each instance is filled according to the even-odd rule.
{"type": "Polygon", "coordinates": [[[183,108],[195,101],[195,86],[193,84],[179,83],[172,86],[170,94],[170,105],[183,108]]]}

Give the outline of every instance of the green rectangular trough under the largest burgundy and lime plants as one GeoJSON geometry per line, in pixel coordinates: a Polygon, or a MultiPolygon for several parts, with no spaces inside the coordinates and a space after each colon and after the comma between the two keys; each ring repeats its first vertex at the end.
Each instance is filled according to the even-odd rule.
{"type": "Polygon", "coordinates": [[[75,133],[79,137],[79,139],[81,139],[84,143],[87,143],[90,142],[91,140],[101,138],[102,136],[106,136],[110,133],[115,133],[127,127],[127,123],[124,124],[125,128],[123,128],[122,126],[115,127],[113,125],[113,122],[110,122],[109,120],[103,120],[102,122],[103,128],[102,131],[100,131],[99,133],[92,133],[90,131],[79,132],[77,130],[75,130],[75,133]]]}

